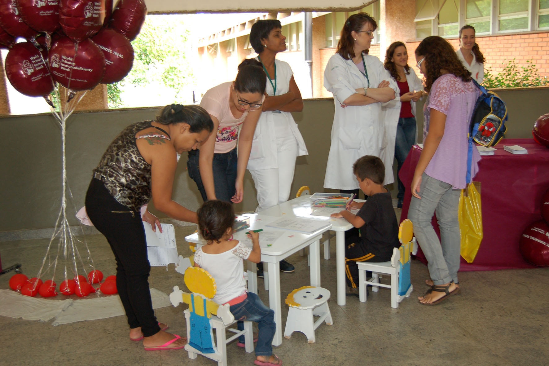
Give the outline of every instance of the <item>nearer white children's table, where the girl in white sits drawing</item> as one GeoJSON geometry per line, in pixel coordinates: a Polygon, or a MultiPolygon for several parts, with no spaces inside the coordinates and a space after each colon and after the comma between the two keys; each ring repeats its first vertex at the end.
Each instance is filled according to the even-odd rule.
{"type": "MultiPolygon", "coordinates": [[[[241,230],[234,234],[234,239],[245,241],[248,230],[263,229],[263,235],[279,235],[278,239],[272,242],[271,246],[266,246],[261,243],[261,262],[266,265],[268,273],[268,288],[269,288],[269,306],[275,310],[276,332],[273,339],[273,346],[279,346],[282,343],[282,306],[281,306],[281,286],[280,286],[280,265],[279,262],[288,256],[299,252],[301,249],[309,247],[310,253],[310,273],[311,286],[320,287],[320,239],[322,234],[330,230],[328,224],[322,229],[319,229],[310,234],[305,234],[298,231],[281,230],[270,228],[266,224],[276,221],[281,215],[265,215],[264,212],[256,214],[246,214],[249,217],[250,228],[241,230]]],[[[291,216],[291,215],[290,215],[291,216]]],[[[328,219],[328,218],[324,218],[328,219]]],[[[188,242],[197,243],[198,246],[204,245],[198,233],[194,233],[185,237],[188,242]]],[[[257,273],[255,263],[248,261],[248,291],[257,293],[257,273]]],[[[344,294],[345,295],[345,294],[344,294]]]]}

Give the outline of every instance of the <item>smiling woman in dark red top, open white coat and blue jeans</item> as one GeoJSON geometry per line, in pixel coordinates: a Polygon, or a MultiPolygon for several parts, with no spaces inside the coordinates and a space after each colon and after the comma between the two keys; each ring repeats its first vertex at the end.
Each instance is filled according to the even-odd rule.
{"type": "Polygon", "coordinates": [[[399,87],[395,99],[382,104],[382,111],[387,130],[386,149],[391,157],[394,154],[397,162],[399,193],[396,195],[396,207],[402,208],[405,188],[398,178],[398,172],[416,143],[416,102],[423,96],[423,83],[408,66],[408,51],[402,42],[393,42],[387,48],[383,66],[399,87]]]}

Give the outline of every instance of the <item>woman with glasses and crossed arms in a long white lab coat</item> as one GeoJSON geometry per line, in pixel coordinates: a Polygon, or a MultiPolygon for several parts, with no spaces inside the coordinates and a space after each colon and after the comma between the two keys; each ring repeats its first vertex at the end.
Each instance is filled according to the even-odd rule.
{"type": "Polygon", "coordinates": [[[357,191],[352,164],[365,155],[383,160],[383,184],[394,181],[381,103],[394,99],[398,88],[380,60],[368,54],[376,28],[376,20],[367,13],[349,16],[324,70],[324,87],[333,93],[335,104],[325,188],[357,191]]]}

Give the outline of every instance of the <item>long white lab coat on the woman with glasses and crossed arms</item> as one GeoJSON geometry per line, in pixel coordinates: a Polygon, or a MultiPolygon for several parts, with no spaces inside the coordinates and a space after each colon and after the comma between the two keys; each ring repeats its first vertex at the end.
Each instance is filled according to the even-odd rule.
{"type": "Polygon", "coordinates": [[[324,70],[324,87],[334,95],[335,114],[332,125],[331,145],[328,154],[324,188],[354,190],[358,188],[352,164],[365,155],[374,155],[385,164],[383,184],[394,182],[391,160],[385,153],[387,145],[385,125],[382,120],[381,103],[368,106],[347,106],[341,108],[346,98],[356,93],[357,88],[377,88],[383,80],[398,93],[396,82],[391,79],[380,60],[371,55],[364,56],[368,71],[366,77],[352,60],[346,60],[338,53],[330,57],[324,70]]]}

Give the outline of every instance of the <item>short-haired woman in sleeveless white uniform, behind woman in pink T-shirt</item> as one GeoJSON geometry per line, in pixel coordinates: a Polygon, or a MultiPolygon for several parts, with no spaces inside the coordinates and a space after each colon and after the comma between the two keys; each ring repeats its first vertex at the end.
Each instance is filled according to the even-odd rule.
{"type": "MultiPolygon", "coordinates": [[[[257,191],[256,211],[288,201],[295,159],[307,154],[305,141],[290,113],[303,109],[301,93],[290,65],[275,58],[278,52],[286,51],[285,40],[279,20],[258,20],[251,27],[250,44],[267,74],[263,112],[257,121],[248,160],[257,191]]],[[[261,267],[258,265],[260,275],[261,267]]],[[[295,270],[285,260],[281,261],[280,269],[295,270]]]]}

